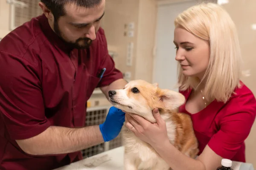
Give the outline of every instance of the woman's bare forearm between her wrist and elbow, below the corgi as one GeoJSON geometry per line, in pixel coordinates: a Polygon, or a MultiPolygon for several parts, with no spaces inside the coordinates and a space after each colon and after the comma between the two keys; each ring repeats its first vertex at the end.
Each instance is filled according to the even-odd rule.
{"type": "Polygon", "coordinates": [[[172,170],[206,170],[204,164],[181,153],[170,142],[153,146],[172,170]]]}

